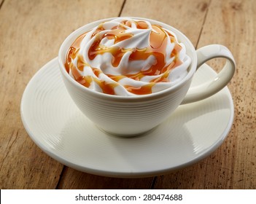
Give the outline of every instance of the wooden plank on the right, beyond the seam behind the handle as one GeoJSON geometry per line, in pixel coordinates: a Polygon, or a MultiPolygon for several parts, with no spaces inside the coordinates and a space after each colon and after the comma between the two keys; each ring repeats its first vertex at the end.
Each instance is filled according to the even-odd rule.
{"type": "MultiPolygon", "coordinates": [[[[198,44],[224,44],[236,59],[237,70],[228,85],[235,120],[225,143],[210,157],[190,168],[160,176],[155,188],[256,188],[256,1],[211,1],[198,44]]],[[[210,63],[216,70],[218,60],[210,63]]]]}

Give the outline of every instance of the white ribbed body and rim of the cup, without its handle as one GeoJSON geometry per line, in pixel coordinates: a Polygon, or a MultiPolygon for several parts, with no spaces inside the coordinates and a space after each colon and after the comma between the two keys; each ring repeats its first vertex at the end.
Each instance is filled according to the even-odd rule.
{"type": "Polygon", "coordinates": [[[190,40],[177,29],[155,20],[134,17],[134,19],[158,24],[177,35],[178,41],[185,44],[187,55],[191,58],[187,76],[173,87],[149,95],[108,95],[90,90],[80,85],[67,73],[64,66],[66,52],[79,35],[112,19],[114,18],[89,23],[70,34],[61,44],[58,62],[69,95],[86,117],[107,133],[116,136],[138,136],[158,126],[182,103],[196,70],[197,55],[190,40]]]}

